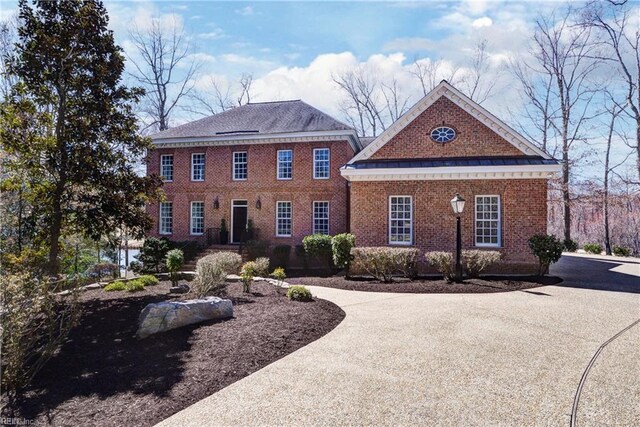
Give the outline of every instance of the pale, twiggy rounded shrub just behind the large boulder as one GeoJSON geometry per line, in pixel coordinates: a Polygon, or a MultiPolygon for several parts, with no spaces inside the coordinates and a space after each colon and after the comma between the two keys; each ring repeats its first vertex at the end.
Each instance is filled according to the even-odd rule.
{"type": "Polygon", "coordinates": [[[196,297],[224,295],[227,275],[237,273],[241,264],[242,257],[234,252],[218,252],[200,258],[192,286],[196,297]]]}

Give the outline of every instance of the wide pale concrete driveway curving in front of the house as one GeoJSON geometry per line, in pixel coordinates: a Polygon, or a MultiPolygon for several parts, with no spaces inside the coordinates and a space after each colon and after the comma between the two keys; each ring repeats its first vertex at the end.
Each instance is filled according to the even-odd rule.
{"type": "Polygon", "coordinates": [[[483,295],[314,287],[336,329],[161,425],[640,425],[640,260],[552,274],[483,295]]]}

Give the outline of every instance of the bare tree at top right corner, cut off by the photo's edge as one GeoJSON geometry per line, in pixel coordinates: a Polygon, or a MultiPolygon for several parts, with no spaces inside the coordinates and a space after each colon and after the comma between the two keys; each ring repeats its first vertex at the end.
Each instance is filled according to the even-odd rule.
{"type": "Polygon", "coordinates": [[[630,110],[630,117],[635,121],[635,144],[630,147],[636,150],[640,182],[640,28],[637,21],[635,26],[633,24],[637,10],[633,11],[625,3],[591,1],[584,10],[582,24],[598,30],[606,47],[601,58],[617,65],[625,86],[625,103],[630,110]]]}

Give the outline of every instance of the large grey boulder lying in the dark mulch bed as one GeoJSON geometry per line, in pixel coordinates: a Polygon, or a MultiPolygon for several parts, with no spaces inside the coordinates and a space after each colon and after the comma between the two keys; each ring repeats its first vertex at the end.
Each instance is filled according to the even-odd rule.
{"type": "Polygon", "coordinates": [[[168,301],[147,305],[138,320],[138,338],[194,323],[233,317],[231,300],[207,297],[189,301],[168,301]]]}

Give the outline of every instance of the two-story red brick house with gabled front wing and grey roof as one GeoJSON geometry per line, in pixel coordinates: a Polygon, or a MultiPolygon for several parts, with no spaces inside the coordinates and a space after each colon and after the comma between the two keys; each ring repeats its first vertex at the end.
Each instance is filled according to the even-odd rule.
{"type": "Polygon", "coordinates": [[[449,200],[466,199],[463,247],[499,250],[531,271],[527,239],[547,230],[557,161],[447,82],[376,138],[302,101],[249,104],[154,135],[149,173],[167,201],[153,235],[202,239],[248,220],[272,245],[350,231],[359,246],[455,248],[449,200]]]}

